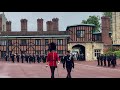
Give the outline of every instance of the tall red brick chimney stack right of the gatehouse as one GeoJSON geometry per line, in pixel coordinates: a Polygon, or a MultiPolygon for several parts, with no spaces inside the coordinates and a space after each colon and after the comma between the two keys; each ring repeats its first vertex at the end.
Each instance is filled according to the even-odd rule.
{"type": "Polygon", "coordinates": [[[110,31],[110,18],[103,16],[102,19],[102,42],[104,45],[111,45],[112,40],[109,37],[109,31],[110,31]]]}

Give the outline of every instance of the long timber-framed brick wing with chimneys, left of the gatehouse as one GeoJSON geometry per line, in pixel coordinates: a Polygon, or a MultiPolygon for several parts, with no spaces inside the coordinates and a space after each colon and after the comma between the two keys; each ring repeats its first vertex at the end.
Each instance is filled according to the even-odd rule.
{"type": "MultiPolygon", "coordinates": [[[[2,21],[0,21],[0,26],[2,26],[2,21]]],[[[21,31],[12,31],[11,21],[6,21],[6,31],[0,28],[0,57],[4,57],[6,53],[46,55],[50,42],[57,44],[57,52],[60,55],[68,50],[67,40],[69,35],[66,31],[59,31],[58,18],[46,22],[47,31],[43,30],[43,19],[37,19],[37,31],[28,31],[27,22],[27,19],[20,20],[21,31]]]]}

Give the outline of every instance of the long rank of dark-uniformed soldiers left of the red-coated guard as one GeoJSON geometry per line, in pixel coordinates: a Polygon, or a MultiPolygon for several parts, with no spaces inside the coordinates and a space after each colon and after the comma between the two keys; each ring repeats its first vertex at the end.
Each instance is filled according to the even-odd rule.
{"type": "Polygon", "coordinates": [[[45,55],[39,55],[39,54],[6,54],[5,55],[5,61],[12,61],[14,62],[27,62],[27,63],[35,63],[35,62],[46,62],[46,56],[45,55]]]}

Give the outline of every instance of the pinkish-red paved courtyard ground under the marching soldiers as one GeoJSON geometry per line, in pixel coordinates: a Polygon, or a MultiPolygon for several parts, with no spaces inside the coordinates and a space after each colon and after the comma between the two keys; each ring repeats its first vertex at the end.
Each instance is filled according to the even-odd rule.
{"type": "MultiPolygon", "coordinates": [[[[120,60],[116,68],[98,67],[96,61],[75,61],[72,78],[120,78],[120,60]]],[[[55,78],[66,78],[66,70],[59,64],[55,78]]],[[[0,61],[0,78],[50,78],[50,69],[44,63],[12,63],[0,61]]]]}

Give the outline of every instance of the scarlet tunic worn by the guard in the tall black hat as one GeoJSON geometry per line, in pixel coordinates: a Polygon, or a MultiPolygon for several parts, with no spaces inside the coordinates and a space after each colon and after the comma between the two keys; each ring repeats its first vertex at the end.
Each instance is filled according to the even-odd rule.
{"type": "Polygon", "coordinates": [[[49,66],[57,66],[56,61],[60,61],[58,54],[56,52],[50,52],[47,56],[47,62],[49,62],[49,66]]]}

